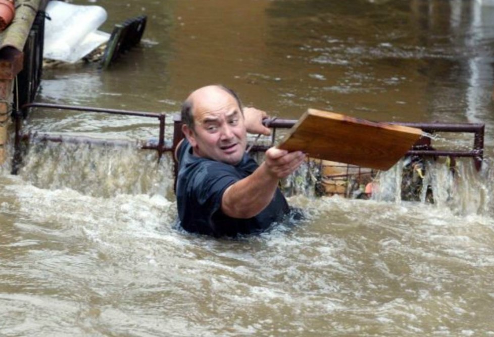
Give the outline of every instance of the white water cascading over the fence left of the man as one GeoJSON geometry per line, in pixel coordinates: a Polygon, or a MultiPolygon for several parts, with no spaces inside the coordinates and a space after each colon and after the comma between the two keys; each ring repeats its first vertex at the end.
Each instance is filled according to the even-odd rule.
{"type": "Polygon", "coordinates": [[[36,143],[24,158],[20,176],[45,189],[72,188],[93,197],[119,194],[169,196],[173,161],[156,152],[127,147],[36,143]]]}

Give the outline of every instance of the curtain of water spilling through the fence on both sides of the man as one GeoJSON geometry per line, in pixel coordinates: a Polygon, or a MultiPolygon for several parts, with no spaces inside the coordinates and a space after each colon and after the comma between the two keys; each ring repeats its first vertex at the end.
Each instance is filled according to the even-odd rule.
{"type": "MultiPolygon", "coordinates": [[[[263,154],[255,154],[255,159],[262,161],[263,154]]],[[[164,155],[158,162],[155,152],[139,150],[131,143],[126,147],[34,143],[24,158],[20,176],[39,188],[72,188],[93,197],[159,194],[174,199],[171,156],[164,155]]],[[[346,179],[347,190],[355,187],[351,186],[355,184],[354,175],[346,179]]],[[[280,186],[287,196],[314,199],[321,195],[320,183],[321,167],[309,160],[280,186]]],[[[468,159],[452,165],[449,159],[417,162],[406,157],[388,171],[378,172],[372,186],[372,200],[378,202],[433,202],[457,214],[488,214],[494,208],[489,193],[494,188],[494,173],[487,160],[477,172],[468,159]]],[[[343,196],[360,198],[361,189],[343,196]]]]}

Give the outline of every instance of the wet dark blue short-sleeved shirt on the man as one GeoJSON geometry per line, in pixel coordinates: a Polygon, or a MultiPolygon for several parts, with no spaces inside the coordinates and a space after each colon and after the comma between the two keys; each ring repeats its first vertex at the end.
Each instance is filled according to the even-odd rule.
{"type": "Polygon", "coordinates": [[[192,154],[190,143],[184,139],[177,151],[177,159],[178,217],[186,231],[215,237],[257,233],[280,221],[289,212],[279,188],[271,203],[252,218],[232,218],[221,211],[225,189],[258,168],[256,161],[246,154],[237,165],[201,158],[192,154]]]}

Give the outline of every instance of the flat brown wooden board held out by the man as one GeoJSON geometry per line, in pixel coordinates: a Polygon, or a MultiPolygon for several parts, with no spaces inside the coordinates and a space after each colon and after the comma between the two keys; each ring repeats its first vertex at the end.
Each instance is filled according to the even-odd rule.
{"type": "Polygon", "coordinates": [[[278,148],[303,151],[311,158],[387,170],[421,135],[422,130],[413,127],[309,109],[278,148]]]}

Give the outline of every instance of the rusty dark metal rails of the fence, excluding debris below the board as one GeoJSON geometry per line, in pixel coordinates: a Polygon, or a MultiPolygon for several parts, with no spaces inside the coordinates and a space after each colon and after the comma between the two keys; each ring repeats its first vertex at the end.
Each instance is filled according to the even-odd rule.
{"type": "MultiPolygon", "coordinates": [[[[175,150],[176,146],[183,138],[183,134],[181,131],[181,120],[180,116],[173,116],[173,140],[171,145],[165,141],[165,126],[166,126],[166,114],[164,113],[150,113],[150,112],[142,112],[142,111],[130,111],[130,110],[117,110],[117,109],[106,109],[106,108],[95,108],[95,107],[84,107],[84,106],[71,106],[71,105],[60,105],[60,104],[51,104],[51,103],[29,103],[25,104],[21,111],[15,111],[15,149],[14,149],[14,158],[12,165],[12,173],[17,174],[18,169],[22,163],[22,151],[21,151],[21,141],[29,140],[29,134],[22,134],[22,120],[23,116],[27,116],[27,110],[31,108],[45,108],[45,109],[58,109],[58,110],[74,110],[74,111],[87,111],[94,113],[106,113],[106,114],[114,114],[114,115],[127,115],[127,116],[139,116],[139,117],[149,117],[156,118],[159,120],[159,136],[158,142],[147,142],[145,145],[141,146],[143,150],[155,150],[158,152],[158,160],[161,159],[163,153],[172,152],[175,150]]],[[[293,119],[279,119],[279,118],[268,118],[264,121],[264,124],[267,127],[273,129],[271,136],[271,144],[267,145],[254,145],[251,151],[259,152],[266,151],[269,147],[271,147],[275,143],[276,139],[276,130],[291,128],[297,120],[293,119]]],[[[422,156],[422,157],[438,157],[438,156],[447,156],[452,159],[457,157],[470,157],[474,160],[474,165],[477,170],[480,170],[482,166],[483,160],[483,146],[484,146],[484,128],[485,125],[482,123],[391,123],[391,124],[399,124],[411,127],[417,127],[422,129],[424,132],[432,134],[434,132],[465,132],[465,133],[473,133],[474,134],[474,142],[472,150],[469,151],[447,151],[447,150],[435,150],[431,146],[430,138],[422,137],[419,141],[414,145],[414,147],[407,152],[408,156],[422,156]]],[[[62,136],[53,136],[53,135],[41,135],[42,140],[46,141],[70,141],[71,139],[78,138],[78,142],[87,142],[87,143],[112,143],[117,144],[117,141],[114,140],[96,140],[84,137],[62,137],[62,136]]],[[[118,145],[118,144],[117,144],[118,145]]],[[[175,165],[175,173],[177,168],[175,165]]]]}

